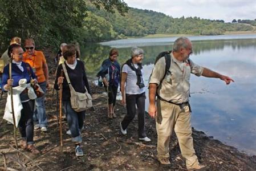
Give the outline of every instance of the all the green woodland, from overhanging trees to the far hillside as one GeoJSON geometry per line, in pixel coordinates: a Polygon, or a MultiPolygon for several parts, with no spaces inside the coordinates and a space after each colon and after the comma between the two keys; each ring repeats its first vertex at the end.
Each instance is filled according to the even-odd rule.
{"type": "Polygon", "coordinates": [[[253,31],[255,21],[173,18],[152,10],[133,9],[122,0],[0,0],[0,50],[10,38],[34,38],[37,46],[62,42],[100,42],[149,34],[220,35],[253,31]]]}

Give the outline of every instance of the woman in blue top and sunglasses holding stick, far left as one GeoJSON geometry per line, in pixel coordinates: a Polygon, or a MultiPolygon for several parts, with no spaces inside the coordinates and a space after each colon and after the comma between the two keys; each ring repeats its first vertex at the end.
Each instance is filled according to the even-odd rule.
{"type": "MultiPolygon", "coordinates": [[[[11,86],[15,89],[15,87],[21,86],[21,84],[30,83],[31,78],[33,82],[36,82],[36,76],[32,71],[32,68],[28,63],[22,62],[23,49],[19,44],[12,44],[8,49],[9,58],[13,58],[11,61],[11,78],[9,75],[9,64],[5,66],[3,69],[3,82],[1,87],[3,91],[9,91],[11,86]]],[[[16,88],[18,91],[18,88],[16,88]]],[[[20,90],[21,91],[21,90],[20,90]]],[[[33,91],[33,90],[32,90],[33,91]]],[[[34,92],[34,91],[33,91],[34,92]]],[[[32,154],[39,154],[39,150],[37,150],[34,146],[34,124],[33,124],[33,111],[34,111],[34,97],[31,97],[30,89],[25,88],[22,92],[19,92],[19,99],[22,104],[21,109],[21,119],[19,120],[19,132],[22,136],[21,148],[29,150],[32,154]]],[[[15,101],[17,103],[17,101],[15,101]]],[[[8,104],[8,103],[7,103],[8,104]]],[[[15,108],[19,108],[15,105],[15,108]]],[[[17,109],[18,110],[18,109],[17,109]]]]}

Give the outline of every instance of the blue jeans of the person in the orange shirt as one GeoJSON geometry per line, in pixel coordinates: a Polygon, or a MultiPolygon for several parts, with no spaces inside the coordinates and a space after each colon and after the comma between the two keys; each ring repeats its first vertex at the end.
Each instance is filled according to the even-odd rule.
{"type": "Polygon", "coordinates": [[[47,127],[47,118],[46,118],[46,107],[45,107],[45,94],[46,94],[46,82],[38,83],[39,86],[44,91],[44,96],[38,97],[35,99],[35,111],[33,119],[36,124],[39,124],[39,127],[47,127]]]}

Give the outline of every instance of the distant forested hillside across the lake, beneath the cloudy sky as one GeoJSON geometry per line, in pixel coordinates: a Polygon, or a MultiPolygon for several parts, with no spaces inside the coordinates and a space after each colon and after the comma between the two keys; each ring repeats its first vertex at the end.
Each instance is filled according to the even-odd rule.
{"type": "MultiPolygon", "coordinates": [[[[148,34],[193,34],[193,35],[220,35],[225,31],[252,31],[250,25],[242,23],[224,23],[222,20],[212,21],[198,17],[172,18],[163,13],[152,10],[140,10],[129,8],[125,16],[109,14],[103,10],[97,10],[94,6],[88,6],[93,14],[104,18],[112,26],[112,35],[145,36],[148,34]]],[[[163,11],[164,12],[164,11],[163,11]]]]}

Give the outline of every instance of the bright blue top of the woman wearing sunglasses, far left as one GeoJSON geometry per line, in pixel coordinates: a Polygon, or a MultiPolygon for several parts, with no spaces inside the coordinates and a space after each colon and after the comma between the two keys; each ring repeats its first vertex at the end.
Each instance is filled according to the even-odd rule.
{"type": "MultiPolygon", "coordinates": [[[[19,70],[17,64],[11,63],[11,77],[13,79],[13,87],[19,86],[20,79],[26,79],[27,83],[30,83],[31,78],[36,79],[36,76],[28,63],[22,62],[21,66],[24,68],[23,72],[21,70],[19,70]],[[29,74],[27,67],[29,67],[31,76],[29,74]]],[[[4,89],[3,87],[5,86],[5,84],[7,84],[7,80],[9,78],[10,78],[9,77],[9,64],[7,64],[5,66],[5,68],[3,68],[2,84],[1,84],[3,91],[6,91],[6,89],[4,89]]]]}

